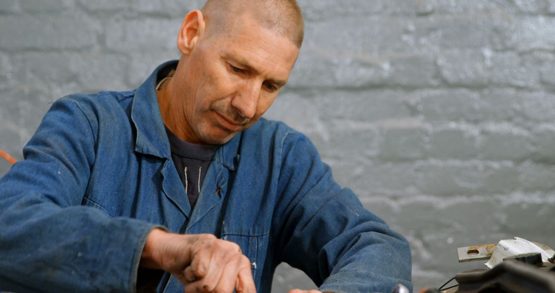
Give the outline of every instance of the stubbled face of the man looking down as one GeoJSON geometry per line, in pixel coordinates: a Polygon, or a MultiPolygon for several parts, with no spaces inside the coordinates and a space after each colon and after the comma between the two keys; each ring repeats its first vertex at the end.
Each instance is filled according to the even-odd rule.
{"type": "Polygon", "coordinates": [[[249,18],[226,32],[207,29],[179,80],[191,140],[223,144],[253,125],[287,82],[298,53],[288,38],[249,18]]]}

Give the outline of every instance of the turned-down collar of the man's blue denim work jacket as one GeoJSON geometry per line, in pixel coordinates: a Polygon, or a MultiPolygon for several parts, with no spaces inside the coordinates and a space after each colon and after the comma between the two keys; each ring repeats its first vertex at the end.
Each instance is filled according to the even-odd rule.
{"type": "MultiPolygon", "coordinates": [[[[170,159],[170,145],[168,135],[160,114],[156,85],[158,80],[164,78],[177,67],[178,60],[172,60],[159,65],[152,74],[135,91],[131,108],[131,120],[137,130],[135,151],[170,159]]],[[[228,169],[235,170],[239,163],[239,145],[242,134],[235,135],[229,142],[222,145],[216,153],[221,155],[221,163],[228,169]]]]}

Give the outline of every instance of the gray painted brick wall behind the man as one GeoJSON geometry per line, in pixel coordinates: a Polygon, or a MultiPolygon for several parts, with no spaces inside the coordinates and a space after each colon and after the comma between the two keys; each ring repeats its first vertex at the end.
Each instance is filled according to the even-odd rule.
{"type": "MultiPolygon", "coordinates": [[[[0,0],[0,148],[49,103],[137,87],[202,0],[0,0]]],[[[457,246],[555,246],[555,0],[301,0],[306,41],[267,114],[307,133],[411,243],[415,289],[480,263],[457,246]]],[[[0,175],[9,165],[0,161],[0,175]]],[[[280,266],[274,292],[310,287],[280,266]]]]}

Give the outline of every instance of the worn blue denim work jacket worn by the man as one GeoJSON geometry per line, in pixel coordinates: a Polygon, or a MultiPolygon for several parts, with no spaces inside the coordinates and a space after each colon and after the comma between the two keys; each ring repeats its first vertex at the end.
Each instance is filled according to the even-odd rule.
{"type": "MultiPolygon", "coordinates": [[[[59,99],[0,179],[0,290],[133,292],[148,233],[234,241],[269,292],[285,261],[331,292],[411,287],[407,241],[332,178],[305,135],[261,119],[222,145],[191,211],[155,85],[59,99]]],[[[158,291],[183,292],[165,274],[158,291]]]]}

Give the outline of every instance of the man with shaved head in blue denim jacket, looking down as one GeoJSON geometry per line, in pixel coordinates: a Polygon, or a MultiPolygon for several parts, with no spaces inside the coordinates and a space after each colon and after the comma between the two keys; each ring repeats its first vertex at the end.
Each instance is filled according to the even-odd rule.
{"type": "Polygon", "coordinates": [[[410,286],[406,240],[261,119],[302,34],[294,0],[209,0],[178,63],[54,103],[0,180],[0,289],[269,292],[281,261],[322,292],[410,286]]]}

